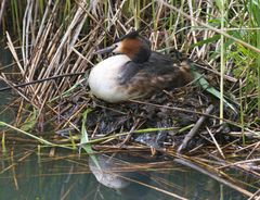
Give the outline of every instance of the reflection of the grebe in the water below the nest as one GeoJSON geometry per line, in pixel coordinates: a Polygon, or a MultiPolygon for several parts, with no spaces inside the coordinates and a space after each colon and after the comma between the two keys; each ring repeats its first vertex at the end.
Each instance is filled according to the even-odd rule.
{"type": "Polygon", "coordinates": [[[123,199],[143,198],[150,190],[147,186],[152,182],[151,173],[150,171],[136,171],[138,166],[131,166],[132,163],[127,162],[123,158],[131,159],[126,154],[110,157],[98,154],[94,159],[89,159],[89,167],[98,182],[116,189],[123,199]]]}

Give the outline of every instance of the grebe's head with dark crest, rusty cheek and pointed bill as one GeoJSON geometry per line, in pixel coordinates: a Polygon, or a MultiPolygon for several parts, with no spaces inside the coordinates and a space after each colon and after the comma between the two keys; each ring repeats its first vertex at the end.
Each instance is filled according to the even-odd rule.
{"type": "Polygon", "coordinates": [[[151,42],[134,30],[118,38],[110,47],[96,51],[96,53],[107,52],[126,54],[133,62],[143,63],[151,55],[151,42]]]}

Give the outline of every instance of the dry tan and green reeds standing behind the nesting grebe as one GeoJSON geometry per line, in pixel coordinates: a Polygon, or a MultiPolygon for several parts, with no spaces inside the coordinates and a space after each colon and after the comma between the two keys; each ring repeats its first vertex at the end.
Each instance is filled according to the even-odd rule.
{"type": "MultiPolygon", "coordinates": [[[[93,53],[99,47],[109,45],[131,28],[142,27],[142,34],[153,41],[153,49],[167,53],[176,48],[202,63],[200,67],[207,68],[211,76],[216,75],[211,77],[216,80],[212,85],[220,88],[221,99],[225,90],[240,104],[242,123],[244,115],[252,113],[257,124],[260,91],[256,4],[221,5],[217,2],[13,2],[13,13],[21,7],[20,13],[13,14],[12,18],[22,24],[14,29],[21,29],[21,37],[12,38],[9,29],[2,30],[6,30],[8,48],[20,72],[15,79],[23,84],[46,80],[28,84],[16,91],[40,114],[48,102],[62,97],[83,77],[81,73],[88,72],[100,60],[93,53]],[[226,13],[221,12],[226,8],[230,8],[226,13]],[[245,21],[243,27],[238,24],[240,21],[245,21]]],[[[15,85],[5,74],[1,74],[1,79],[14,83],[12,87],[15,85]]],[[[222,100],[220,108],[220,117],[223,117],[222,100]]]]}

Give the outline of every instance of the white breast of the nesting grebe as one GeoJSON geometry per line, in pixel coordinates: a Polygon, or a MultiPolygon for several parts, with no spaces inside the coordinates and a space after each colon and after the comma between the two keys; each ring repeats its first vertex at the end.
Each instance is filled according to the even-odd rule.
{"type": "Polygon", "coordinates": [[[120,54],[110,57],[95,65],[89,75],[89,86],[94,96],[108,102],[127,100],[127,92],[117,84],[119,70],[130,59],[120,54]]]}

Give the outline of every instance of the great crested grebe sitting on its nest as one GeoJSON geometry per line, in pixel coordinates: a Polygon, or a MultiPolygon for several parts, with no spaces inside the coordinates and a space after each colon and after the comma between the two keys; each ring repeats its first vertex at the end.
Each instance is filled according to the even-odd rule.
{"type": "Polygon", "coordinates": [[[151,50],[151,41],[131,32],[96,53],[120,53],[96,64],[90,72],[92,93],[107,102],[145,97],[181,87],[192,78],[188,61],[151,50]]]}

